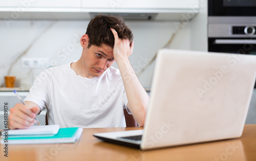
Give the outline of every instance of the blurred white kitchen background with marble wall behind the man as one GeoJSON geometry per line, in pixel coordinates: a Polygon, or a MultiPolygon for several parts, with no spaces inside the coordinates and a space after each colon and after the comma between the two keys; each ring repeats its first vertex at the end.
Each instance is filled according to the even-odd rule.
{"type": "MultiPolygon", "coordinates": [[[[223,7],[228,1],[220,2],[223,7]]],[[[154,58],[158,49],[166,47],[208,51],[208,46],[211,45],[208,42],[214,41],[210,38],[208,41],[208,16],[211,17],[212,23],[218,24],[219,19],[215,18],[221,15],[215,15],[212,10],[221,5],[214,4],[213,0],[2,1],[0,4],[0,129],[3,129],[4,102],[9,102],[9,108],[18,103],[12,90],[18,90],[25,98],[34,79],[41,71],[80,58],[82,52],[80,37],[86,33],[87,25],[95,14],[106,13],[124,17],[126,25],[134,34],[135,46],[130,61],[141,84],[150,94],[154,61],[152,64],[147,64],[154,58]],[[211,5],[209,9],[208,5],[211,5]],[[212,13],[209,14],[209,11],[212,13]],[[13,88],[5,86],[5,76],[16,77],[13,88]]],[[[230,8],[230,4],[228,5],[230,8]]],[[[234,5],[238,4],[234,3],[234,5]]],[[[255,17],[252,20],[254,21],[250,19],[249,25],[256,26],[255,17]]],[[[254,28],[250,29],[253,31],[254,28]]],[[[215,35],[212,32],[211,34],[215,35]]],[[[255,51],[255,47],[253,50],[255,51]]],[[[117,67],[117,64],[114,64],[114,67],[117,67]]],[[[255,98],[253,93],[246,123],[256,123],[255,98]]],[[[38,117],[44,122],[44,112],[38,117]]]]}

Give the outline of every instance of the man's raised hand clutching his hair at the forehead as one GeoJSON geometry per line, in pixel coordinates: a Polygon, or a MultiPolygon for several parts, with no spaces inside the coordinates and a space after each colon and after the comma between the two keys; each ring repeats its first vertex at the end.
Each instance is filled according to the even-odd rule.
{"type": "Polygon", "coordinates": [[[129,60],[129,56],[133,53],[133,41],[130,42],[129,39],[119,39],[116,30],[113,28],[110,28],[110,30],[112,31],[115,38],[113,49],[114,59],[117,63],[118,61],[129,60]]]}

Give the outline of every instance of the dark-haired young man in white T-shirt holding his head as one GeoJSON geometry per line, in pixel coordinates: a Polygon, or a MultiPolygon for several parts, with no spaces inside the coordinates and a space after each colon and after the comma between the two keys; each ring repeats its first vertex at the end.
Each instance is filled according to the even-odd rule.
{"type": "Polygon", "coordinates": [[[129,56],[133,34],[119,17],[98,15],[80,39],[78,61],[48,68],[35,80],[25,105],[10,109],[9,129],[28,128],[43,109],[48,123],[63,127],[124,127],[123,108],[144,125],[150,98],[129,56]],[[116,61],[119,70],[111,65],[116,61]]]}

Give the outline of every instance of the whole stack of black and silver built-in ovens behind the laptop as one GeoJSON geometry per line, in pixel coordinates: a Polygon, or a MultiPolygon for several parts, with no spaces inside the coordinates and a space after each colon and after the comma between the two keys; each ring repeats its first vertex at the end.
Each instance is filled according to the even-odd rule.
{"type": "Polygon", "coordinates": [[[256,0],[208,0],[208,51],[256,55],[255,30],[256,0]]]}

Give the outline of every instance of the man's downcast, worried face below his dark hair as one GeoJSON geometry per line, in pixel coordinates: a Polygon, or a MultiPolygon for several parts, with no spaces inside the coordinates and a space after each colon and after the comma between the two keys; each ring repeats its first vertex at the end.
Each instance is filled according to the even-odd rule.
{"type": "Polygon", "coordinates": [[[113,48],[109,45],[102,44],[100,47],[91,45],[90,48],[84,49],[82,60],[87,78],[101,76],[113,63],[113,48]]]}

